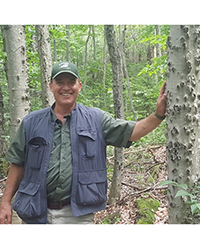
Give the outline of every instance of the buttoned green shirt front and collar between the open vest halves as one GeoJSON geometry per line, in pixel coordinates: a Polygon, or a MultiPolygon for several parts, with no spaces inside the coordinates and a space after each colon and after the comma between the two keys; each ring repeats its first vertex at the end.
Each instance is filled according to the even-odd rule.
{"type": "Polygon", "coordinates": [[[72,156],[69,130],[71,114],[64,117],[65,123],[62,124],[53,110],[51,111],[55,127],[49,168],[47,170],[47,198],[51,201],[60,201],[69,198],[71,194],[72,156]]]}

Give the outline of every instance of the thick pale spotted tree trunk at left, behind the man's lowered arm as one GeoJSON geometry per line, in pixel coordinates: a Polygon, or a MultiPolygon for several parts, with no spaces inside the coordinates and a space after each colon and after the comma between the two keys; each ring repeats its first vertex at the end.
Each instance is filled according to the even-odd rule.
{"type": "Polygon", "coordinates": [[[6,76],[9,85],[10,137],[12,140],[22,118],[30,110],[25,30],[22,25],[3,25],[1,28],[7,55],[6,76]]]}

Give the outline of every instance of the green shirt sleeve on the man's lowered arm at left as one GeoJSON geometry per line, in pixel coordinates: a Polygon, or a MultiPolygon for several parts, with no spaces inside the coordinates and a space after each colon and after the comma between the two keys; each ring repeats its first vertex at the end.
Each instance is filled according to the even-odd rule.
{"type": "Polygon", "coordinates": [[[24,166],[25,163],[25,131],[23,122],[8,149],[7,161],[19,166],[24,166]]]}

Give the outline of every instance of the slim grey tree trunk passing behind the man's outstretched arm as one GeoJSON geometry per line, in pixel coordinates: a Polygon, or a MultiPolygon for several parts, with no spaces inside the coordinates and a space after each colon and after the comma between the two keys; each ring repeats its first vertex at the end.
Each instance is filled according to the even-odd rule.
{"type": "MultiPolygon", "coordinates": [[[[113,72],[113,99],[115,118],[124,118],[124,106],[122,95],[122,60],[116,43],[114,25],[105,25],[105,34],[112,63],[113,72]]],[[[109,204],[120,199],[121,193],[121,169],[123,168],[123,148],[115,148],[115,164],[110,188],[109,204]]]]}

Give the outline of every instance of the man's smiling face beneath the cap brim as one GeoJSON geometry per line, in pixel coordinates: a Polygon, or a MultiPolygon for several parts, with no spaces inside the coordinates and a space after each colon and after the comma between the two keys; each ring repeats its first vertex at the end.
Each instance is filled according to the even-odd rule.
{"type": "Polygon", "coordinates": [[[82,83],[69,73],[61,73],[49,84],[56,104],[62,107],[74,107],[82,83]]]}

